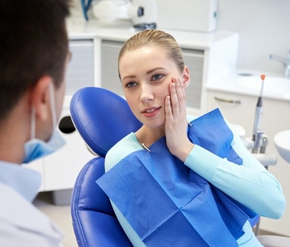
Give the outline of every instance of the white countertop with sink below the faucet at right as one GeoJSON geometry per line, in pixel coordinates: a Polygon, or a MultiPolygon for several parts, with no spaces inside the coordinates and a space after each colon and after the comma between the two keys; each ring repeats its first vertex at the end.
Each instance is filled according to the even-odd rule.
{"type": "MultiPolygon", "coordinates": [[[[262,80],[261,73],[249,72],[241,76],[241,72],[234,72],[216,81],[208,82],[206,89],[231,92],[243,95],[259,96],[262,80]]],[[[290,79],[281,75],[266,74],[262,96],[278,100],[290,101],[290,79]]]]}

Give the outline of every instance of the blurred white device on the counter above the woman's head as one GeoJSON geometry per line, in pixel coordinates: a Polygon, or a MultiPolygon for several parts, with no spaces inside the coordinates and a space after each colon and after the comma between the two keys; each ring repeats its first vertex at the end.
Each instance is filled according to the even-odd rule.
{"type": "Polygon", "coordinates": [[[137,28],[156,28],[155,0],[99,0],[93,4],[93,13],[104,23],[126,19],[137,28]]]}

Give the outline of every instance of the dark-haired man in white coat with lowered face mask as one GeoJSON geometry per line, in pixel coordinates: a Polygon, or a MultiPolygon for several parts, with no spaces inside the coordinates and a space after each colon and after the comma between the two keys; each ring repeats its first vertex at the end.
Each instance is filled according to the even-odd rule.
{"type": "Polygon", "coordinates": [[[40,174],[21,164],[64,145],[68,1],[0,5],[0,246],[59,246],[62,233],[32,204],[40,174]]]}

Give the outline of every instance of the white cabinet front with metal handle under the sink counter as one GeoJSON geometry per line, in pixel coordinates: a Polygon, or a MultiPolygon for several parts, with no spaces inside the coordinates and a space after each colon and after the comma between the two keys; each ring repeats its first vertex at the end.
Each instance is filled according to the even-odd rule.
{"type": "MultiPolygon", "coordinates": [[[[209,90],[207,110],[218,107],[225,119],[242,125],[246,134],[252,136],[257,99],[255,96],[209,90]]],[[[270,144],[277,132],[290,128],[289,109],[290,101],[263,98],[260,129],[269,136],[270,144]]]]}

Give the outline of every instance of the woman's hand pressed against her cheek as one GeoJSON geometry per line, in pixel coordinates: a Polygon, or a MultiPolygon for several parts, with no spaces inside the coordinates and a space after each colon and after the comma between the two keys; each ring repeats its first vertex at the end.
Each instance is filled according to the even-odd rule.
{"type": "Polygon", "coordinates": [[[180,78],[169,85],[170,96],[165,98],[165,135],[169,151],[185,161],[194,145],[187,137],[186,97],[180,78]]]}

